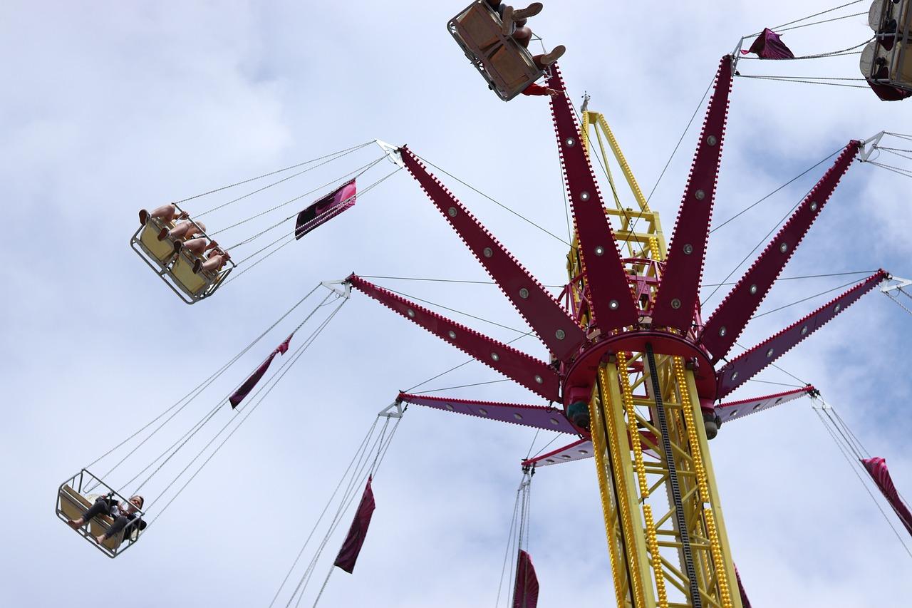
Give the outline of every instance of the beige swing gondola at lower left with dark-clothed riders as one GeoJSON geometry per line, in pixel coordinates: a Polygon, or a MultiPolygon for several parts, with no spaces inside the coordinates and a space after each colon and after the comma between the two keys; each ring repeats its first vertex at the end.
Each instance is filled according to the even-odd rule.
{"type": "MultiPolygon", "coordinates": [[[[60,484],[57,489],[57,518],[66,522],[79,519],[92,506],[96,498],[108,495],[118,498],[119,502],[127,502],[127,498],[122,497],[116,490],[89,473],[87,469],[82,469],[76,475],[60,484]],[[104,491],[99,492],[98,490],[102,488],[104,491]]],[[[124,538],[124,530],[120,530],[101,544],[95,541],[93,537],[104,534],[114,523],[114,519],[109,518],[107,515],[98,515],[92,518],[87,525],[77,531],[82,538],[98,547],[98,550],[109,558],[115,558],[140,539],[142,534],[140,522],[143,515],[142,509],[137,509],[137,519],[133,520],[136,524],[128,527],[130,535],[127,538],[124,538]],[[124,544],[125,540],[126,544],[124,544]]]]}

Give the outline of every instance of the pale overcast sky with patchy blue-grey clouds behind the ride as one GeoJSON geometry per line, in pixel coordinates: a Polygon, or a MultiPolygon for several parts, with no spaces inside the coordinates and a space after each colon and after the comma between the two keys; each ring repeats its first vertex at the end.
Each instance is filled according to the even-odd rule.
{"type": "MultiPolygon", "coordinates": [[[[548,48],[567,46],[561,67],[575,104],[584,91],[592,95],[590,108],[606,114],[649,192],[719,58],[742,35],[830,4],[682,2],[663,5],[658,13],[636,3],[555,0],[531,25],[548,48]]],[[[554,233],[544,234],[443,177],[542,282],[565,282],[565,205],[547,101],[520,97],[505,104],[486,89],[445,29],[460,8],[358,1],[5,3],[0,195],[7,230],[0,249],[7,263],[0,270],[6,289],[0,299],[0,384],[7,397],[0,481],[6,499],[0,512],[6,547],[0,603],[268,605],[377,412],[399,389],[465,361],[460,352],[354,294],[141,542],[109,561],[55,518],[57,487],[201,383],[319,281],[352,271],[488,280],[405,172],[192,307],[128,248],[140,207],[374,138],[409,143],[554,233]]],[[[865,2],[834,15],[866,9],[865,2]]],[[[796,55],[809,55],[852,47],[869,36],[865,17],[855,16],[793,30],[783,39],[796,55]]],[[[772,67],[745,61],[739,68],[744,74],[856,78],[856,61],[853,56],[772,67]]],[[[865,89],[736,79],[714,224],[850,139],[912,131],[908,104],[880,102],[865,89]]],[[[669,238],[702,113],[652,198],[669,238]]],[[[364,148],[213,213],[206,222],[212,230],[232,225],[380,155],[377,148],[364,148]]],[[[890,161],[903,162],[912,165],[898,157],[890,161]]],[[[381,162],[359,184],[363,188],[393,169],[381,162]]],[[[714,233],[704,281],[724,279],[823,170],[714,233]]],[[[198,213],[252,189],[242,186],[187,206],[198,213]]],[[[908,179],[856,163],[785,276],[877,267],[912,275],[909,192],[908,179]]],[[[316,196],[283,212],[292,215],[316,196]]],[[[285,217],[283,212],[226,231],[223,244],[254,234],[285,217]]],[[[235,259],[259,248],[244,247],[235,259]]],[[[785,281],[762,310],[851,279],[785,281]]],[[[492,285],[376,280],[525,330],[492,285]]],[[[706,306],[712,309],[723,295],[706,306]]],[[[762,317],[741,344],[761,341],[833,295],[762,317]]],[[[296,309],[164,427],[146,452],[119,467],[111,483],[124,483],[149,464],[155,448],[180,437],[316,303],[309,299],[296,309]]],[[[456,318],[498,340],[520,335],[456,318]]],[[[910,329],[907,313],[875,291],[781,360],[784,369],[823,392],[873,455],[886,457],[899,491],[907,494],[910,329]]],[[[532,338],[516,345],[545,356],[532,338]]],[[[775,370],[761,378],[795,383],[775,370]]],[[[498,379],[472,363],[423,388],[498,379]]],[[[748,383],[738,395],[780,389],[748,383]]],[[[512,383],[443,393],[539,403],[512,383]]],[[[206,433],[211,436],[232,416],[223,409],[206,433]]],[[[162,469],[143,490],[147,500],[208,438],[201,433],[170,463],[176,469],[162,469]]],[[[411,408],[375,481],[378,507],[358,567],[353,575],[333,574],[323,605],[493,605],[519,461],[551,439],[519,426],[411,408]]],[[[906,605],[910,556],[807,400],[726,425],[711,447],[731,550],[754,605],[906,605]]],[[[899,528],[892,514],[890,519],[899,528]]],[[[530,534],[540,605],[612,602],[591,460],[539,471],[530,534]]],[[[340,541],[329,541],[301,605],[313,603],[340,541]]],[[[311,554],[305,551],[305,561],[311,554]]],[[[286,600],[287,592],[277,605],[286,600]]]]}

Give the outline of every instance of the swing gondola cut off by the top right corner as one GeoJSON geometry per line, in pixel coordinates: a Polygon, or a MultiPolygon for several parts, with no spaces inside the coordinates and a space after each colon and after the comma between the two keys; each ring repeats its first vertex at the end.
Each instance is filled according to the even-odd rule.
{"type": "Polygon", "coordinates": [[[912,0],[875,0],[868,23],[877,39],[862,52],[862,74],[876,84],[912,91],[912,0]]]}

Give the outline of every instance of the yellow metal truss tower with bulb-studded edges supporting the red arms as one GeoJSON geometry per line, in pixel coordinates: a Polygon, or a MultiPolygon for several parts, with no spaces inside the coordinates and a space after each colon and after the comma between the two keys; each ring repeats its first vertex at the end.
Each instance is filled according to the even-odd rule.
{"type": "MultiPolygon", "coordinates": [[[[630,257],[663,261],[658,213],[605,117],[586,105],[583,140],[611,185],[616,208],[606,214],[619,225],[617,240],[630,257]],[[637,208],[625,207],[618,194],[605,142],[637,208]]],[[[655,273],[655,265],[637,262],[627,269],[655,273]]],[[[586,285],[576,240],[567,271],[579,307],[586,285]]],[[[585,309],[577,309],[586,328],[585,309]]],[[[680,357],[617,352],[598,369],[589,414],[617,606],[742,608],[693,372],[680,357]]]]}

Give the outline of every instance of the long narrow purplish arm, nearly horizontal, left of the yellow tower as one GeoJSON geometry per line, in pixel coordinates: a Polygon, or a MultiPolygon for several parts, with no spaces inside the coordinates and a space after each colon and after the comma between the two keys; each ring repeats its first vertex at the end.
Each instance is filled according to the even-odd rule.
{"type": "Polygon", "coordinates": [[[566,419],[564,412],[546,405],[503,404],[476,399],[453,399],[451,397],[432,397],[426,394],[399,393],[399,401],[406,404],[433,407],[445,412],[466,414],[497,420],[512,425],[531,426],[545,431],[557,431],[576,435],[574,425],[566,419]]]}

